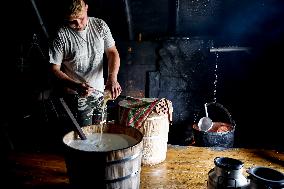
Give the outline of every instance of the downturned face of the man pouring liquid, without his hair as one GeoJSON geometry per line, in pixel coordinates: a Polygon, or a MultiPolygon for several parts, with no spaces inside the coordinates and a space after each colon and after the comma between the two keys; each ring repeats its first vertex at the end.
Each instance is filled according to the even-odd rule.
{"type": "Polygon", "coordinates": [[[71,16],[68,19],[68,26],[76,31],[82,31],[88,23],[88,5],[84,5],[83,10],[76,16],[71,16]]]}

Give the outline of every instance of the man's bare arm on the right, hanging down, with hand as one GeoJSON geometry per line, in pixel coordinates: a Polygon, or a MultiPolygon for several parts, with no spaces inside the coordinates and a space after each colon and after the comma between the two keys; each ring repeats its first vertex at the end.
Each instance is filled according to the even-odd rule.
{"type": "Polygon", "coordinates": [[[112,99],[116,99],[121,93],[121,87],[117,81],[117,74],[120,67],[120,57],[116,46],[107,48],[106,56],[108,60],[108,78],[106,82],[106,89],[111,91],[112,99]]]}

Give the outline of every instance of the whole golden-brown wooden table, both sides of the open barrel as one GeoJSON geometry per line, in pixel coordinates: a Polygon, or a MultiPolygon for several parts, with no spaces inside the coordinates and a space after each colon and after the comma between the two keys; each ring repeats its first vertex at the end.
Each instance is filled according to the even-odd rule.
{"type": "MultiPolygon", "coordinates": [[[[141,189],[206,188],[208,171],[215,157],[231,157],[244,162],[245,170],[266,166],[284,172],[284,153],[262,149],[214,149],[168,145],[167,158],[154,166],[142,166],[141,189]]],[[[3,182],[7,188],[69,189],[67,170],[62,154],[42,152],[9,152],[3,182]]],[[[2,182],[2,181],[1,181],[2,182]]],[[[2,186],[3,186],[2,182],[2,186]]]]}

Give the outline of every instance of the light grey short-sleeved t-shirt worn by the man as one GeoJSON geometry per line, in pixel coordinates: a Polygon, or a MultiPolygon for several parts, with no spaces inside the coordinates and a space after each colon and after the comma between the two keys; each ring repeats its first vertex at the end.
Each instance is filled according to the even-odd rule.
{"type": "MultiPolygon", "coordinates": [[[[89,17],[84,31],[75,31],[67,26],[58,30],[50,44],[49,62],[61,64],[61,69],[70,78],[87,82],[103,91],[103,53],[114,45],[107,24],[102,19],[89,17]]],[[[71,89],[68,92],[75,93],[71,89]]]]}

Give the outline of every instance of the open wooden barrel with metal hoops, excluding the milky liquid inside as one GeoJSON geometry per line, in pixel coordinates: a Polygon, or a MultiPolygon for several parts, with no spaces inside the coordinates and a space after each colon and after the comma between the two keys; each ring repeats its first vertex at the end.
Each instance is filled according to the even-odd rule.
{"type": "MultiPolygon", "coordinates": [[[[132,146],[111,151],[84,151],[69,144],[78,139],[75,132],[63,137],[65,163],[69,181],[75,188],[139,189],[143,143],[142,133],[133,127],[115,124],[82,127],[88,135],[93,133],[125,134],[137,140],[132,146]]],[[[80,140],[80,139],[79,139],[80,140]]]]}

